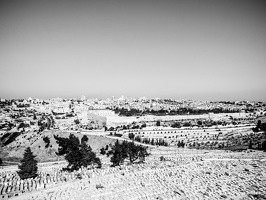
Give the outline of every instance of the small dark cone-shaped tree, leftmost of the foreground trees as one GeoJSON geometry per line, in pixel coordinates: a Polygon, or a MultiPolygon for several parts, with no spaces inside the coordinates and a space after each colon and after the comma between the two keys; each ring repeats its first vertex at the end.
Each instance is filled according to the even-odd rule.
{"type": "Polygon", "coordinates": [[[34,159],[36,156],[33,155],[30,147],[27,147],[21,165],[18,166],[20,169],[17,173],[21,179],[35,178],[38,176],[37,161],[34,159]]]}

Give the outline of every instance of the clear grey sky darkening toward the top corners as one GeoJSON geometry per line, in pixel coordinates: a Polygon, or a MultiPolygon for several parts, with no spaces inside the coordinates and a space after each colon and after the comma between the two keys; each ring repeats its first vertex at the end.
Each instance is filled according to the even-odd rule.
{"type": "Polygon", "coordinates": [[[0,97],[266,100],[258,0],[0,1],[0,97]]]}

